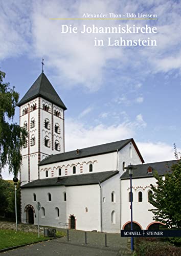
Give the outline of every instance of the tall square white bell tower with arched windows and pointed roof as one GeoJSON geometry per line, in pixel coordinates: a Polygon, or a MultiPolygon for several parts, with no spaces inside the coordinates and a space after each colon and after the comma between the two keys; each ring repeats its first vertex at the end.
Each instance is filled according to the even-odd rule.
{"type": "Polygon", "coordinates": [[[28,131],[22,148],[21,185],[39,179],[39,162],[64,152],[64,111],[66,106],[47,76],[39,75],[18,102],[19,122],[28,131]]]}

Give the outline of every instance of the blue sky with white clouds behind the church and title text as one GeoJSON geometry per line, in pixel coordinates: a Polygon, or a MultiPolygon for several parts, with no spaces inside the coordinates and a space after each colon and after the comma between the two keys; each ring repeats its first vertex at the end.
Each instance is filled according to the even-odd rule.
{"type": "MultiPolygon", "coordinates": [[[[133,138],[148,162],[181,148],[180,1],[0,0],[0,70],[21,99],[41,73],[67,107],[65,151],[133,138]],[[156,14],[156,20],[86,20],[88,14],[156,14]],[[59,18],[59,19],[51,19],[59,18]],[[60,19],[61,18],[61,19],[60,19]],[[69,19],[67,19],[69,18],[69,19]],[[78,33],[62,33],[62,25],[78,33]],[[83,25],[148,25],[155,34],[80,33],[83,25]],[[156,39],[157,46],[94,46],[94,38],[156,39]]],[[[16,109],[15,122],[19,122],[16,109]]],[[[2,172],[8,179],[8,169],[2,172]]]]}

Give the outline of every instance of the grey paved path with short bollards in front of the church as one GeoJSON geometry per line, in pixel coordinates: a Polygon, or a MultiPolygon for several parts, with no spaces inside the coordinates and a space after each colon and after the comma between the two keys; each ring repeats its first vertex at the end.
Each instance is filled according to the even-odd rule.
{"type": "Polygon", "coordinates": [[[107,247],[104,246],[104,233],[87,232],[87,245],[84,244],[84,232],[69,230],[67,237],[41,242],[18,249],[3,252],[6,255],[62,255],[62,256],[118,256],[129,255],[127,251],[127,238],[121,238],[120,234],[107,234],[107,247]]]}

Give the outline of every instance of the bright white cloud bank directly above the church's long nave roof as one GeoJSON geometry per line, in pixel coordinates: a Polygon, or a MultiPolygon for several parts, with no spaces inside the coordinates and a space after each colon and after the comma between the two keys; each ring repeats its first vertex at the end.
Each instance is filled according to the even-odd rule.
{"type": "MultiPolygon", "coordinates": [[[[141,114],[137,116],[137,120],[144,122],[141,114]]],[[[134,129],[135,125],[130,125],[130,123],[110,126],[101,124],[87,128],[83,123],[69,119],[65,123],[65,150],[71,151],[77,148],[134,138],[136,136],[134,129]]],[[[173,147],[169,144],[151,141],[139,142],[139,140],[135,140],[135,142],[147,163],[174,159],[173,147]]]]}

